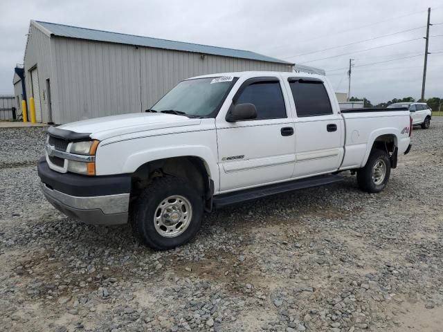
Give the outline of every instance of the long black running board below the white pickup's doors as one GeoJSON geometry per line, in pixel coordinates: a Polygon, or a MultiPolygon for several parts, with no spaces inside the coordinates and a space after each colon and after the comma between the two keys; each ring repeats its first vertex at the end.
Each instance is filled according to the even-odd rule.
{"type": "Polygon", "coordinates": [[[300,190],[311,187],[318,187],[319,185],[329,185],[343,181],[343,176],[336,174],[315,176],[312,178],[302,178],[290,182],[276,183],[275,185],[266,185],[264,187],[256,187],[246,189],[239,192],[230,192],[228,194],[219,194],[213,196],[213,207],[223,208],[227,205],[236,203],[243,203],[260,199],[262,197],[271,196],[274,194],[281,194],[282,192],[292,192],[293,190],[300,190]]]}

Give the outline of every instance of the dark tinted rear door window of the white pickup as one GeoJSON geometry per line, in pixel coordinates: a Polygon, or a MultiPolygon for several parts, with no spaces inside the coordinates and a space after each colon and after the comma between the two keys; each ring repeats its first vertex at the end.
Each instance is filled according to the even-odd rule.
{"type": "Polygon", "coordinates": [[[322,82],[289,82],[297,116],[332,114],[331,102],[322,82]]]}

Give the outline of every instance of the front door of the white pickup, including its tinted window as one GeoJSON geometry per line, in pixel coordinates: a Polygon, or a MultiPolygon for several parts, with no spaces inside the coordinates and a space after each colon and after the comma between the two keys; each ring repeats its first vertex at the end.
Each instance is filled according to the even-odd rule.
{"type": "Polygon", "coordinates": [[[257,118],[216,122],[221,192],[284,181],[293,172],[294,124],[280,80],[246,80],[233,98],[241,103],[254,104],[257,118]]]}

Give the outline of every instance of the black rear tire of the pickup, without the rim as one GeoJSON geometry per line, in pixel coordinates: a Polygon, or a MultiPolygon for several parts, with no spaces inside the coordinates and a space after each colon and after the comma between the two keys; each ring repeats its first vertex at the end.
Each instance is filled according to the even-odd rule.
{"type": "MultiPolygon", "coordinates": [[[[359,187],[361,188],[361,190],[364,190],[365,192],[381,192],[381,190],[383,190],[388,184],[389,176],[390,160],[388,153],[383,150],[373,149],[368,158],[368,162],[366,162],[365,167],[357,171],[357,183],[359,183],[359,187]],[[384,164],[386,169],[383,180],[380,183],[377,183],[377,181],[374,181],[374,178],[372,178],[372,172],[374,166],[379,161],[380,163],[384,164]]],[[[379,179],[381,180],[381,178],[379,179]]]]}

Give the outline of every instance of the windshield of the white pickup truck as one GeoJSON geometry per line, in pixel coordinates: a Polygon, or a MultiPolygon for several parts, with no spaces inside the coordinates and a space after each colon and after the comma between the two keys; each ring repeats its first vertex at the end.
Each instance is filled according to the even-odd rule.
{"type": "Polygon", "coordinates": [[[182,81],[166,93],[150,111],[197,117],[213,116],[234,83],[232,76],[182,81]]]}

